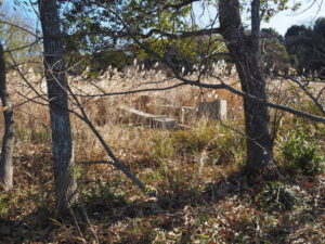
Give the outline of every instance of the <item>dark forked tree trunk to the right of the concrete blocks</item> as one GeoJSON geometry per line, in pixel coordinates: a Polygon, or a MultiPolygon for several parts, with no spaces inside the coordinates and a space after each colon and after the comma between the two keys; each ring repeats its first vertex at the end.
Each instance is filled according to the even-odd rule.
{"type": "MultiPolygon", "coordinates": [[[[250,35],[244,33],[238,0],[220,0],[219,11],[221,33],[234,57],[243,91],[266,100],[265,80],[259,65],[259,0],[251,1],[250,35]]],[[[244,113],[247,134],[246,166],[248,171],[257,172],[273,159],[268,107],[245,98],[244,113]]]]}

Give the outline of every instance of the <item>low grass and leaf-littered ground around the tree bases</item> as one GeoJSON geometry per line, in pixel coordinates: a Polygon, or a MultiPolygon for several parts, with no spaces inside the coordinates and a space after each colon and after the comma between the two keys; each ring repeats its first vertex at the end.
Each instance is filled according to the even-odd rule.
{"type": "MultiPolygon", "coordinates": [[[[286,126],[297,128],[301,121],[286,126]]],[[[314,131],[311,138],[323,140],[323,126],[302,126],[303,140],[310,131],[314,131]]],[[[92,136],[81,133],[83,127],[79,128],[77,160],[102,159],[104,154],[92,136]]],[[[105,131],[106,127],[101,128],[105,131]]],[[[16,188],[9,195],[0,193],[1,240],[87,243],[96,236],[100,243],[253,243],[260,240],[321,244],[325,237],[323,175],[314,172],[310,177],[309,171],[300,169],[294,170],[298,175],[287,175],[288,160],[283,150],[291,141],[297,143],[299,132],[287,133],[285,128],[280,131],[275,150],[284,165],[277,166],[282,178],[273,172],[273,178],[252,183],[240,174],[243,137],[219,123],[203,119],[197,126],[180,131],[109,125],[109,131],[114,132],[107,134],[107,140],[121,150],[119,156],[151,189],[167,194],[169,205],[141,194],[109,165],[78,164],[75,174],[81,201],[72,208],[75,219],[57,218],[52,211],[50,141],[25,140],[15,155],[16,188]]],[[[314,146],[309,143],[308,146],[314,146]]],[[[318,146],[324,149],[321,141],[318,146]]]]}

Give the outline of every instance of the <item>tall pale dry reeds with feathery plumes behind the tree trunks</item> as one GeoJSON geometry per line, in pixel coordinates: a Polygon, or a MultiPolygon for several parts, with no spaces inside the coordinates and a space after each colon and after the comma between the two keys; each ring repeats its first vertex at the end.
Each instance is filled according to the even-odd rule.
{"type": "MultiPolygon", "coordinates": [[[[235,73],[225,74],[225,67],[214,65],[216,75],[222,77],[223,81],[239,89],[238,77],[235,73]]],[[[50,118],[48,107],[38,103],[47,103],[47,86],[44,78],[32,68],[22,68],[29,85],[17,73],[8,76],[9,88],[14,104],[22,104],[27,99],[35,99],[37,91],[42,95],[34,101],[15,107],[15,118],[18,131],[18,140],[23,142],[47,141],[50,142],[50,118]],[[32,89],[30,88],[32,87],[32,89]]],[[[235,125],[243,125],[243,99],[234,95],[227,90],[211,90],[197,88],[194,86],[182,86],[172,90],[151,91],[121,95],[103,95],[112,92],[127,92],[139,89],[164,88],[178,84],[174,78],[168,77],[164,70],[146,70],[135,66],[132,72],[121,73],[112,67],[106,73],[94,79],[84,79],[88,74],[74,77],[68,76],[68,82],[83,104],[89,117],[96,125],[104,139],[116,150],[119,156],[125,151],[132,149],[132,153],[139,155],[148,150],[145,140],[138,140],[139,137],[148,137],[151,132],[143,132],[145,128],[136,127],[130,114],[119,110],[120,105],[129,105],[153,114],[168,114],[179,123],[188,126],[197,126],[195,112],[187,113],[187,119],[182,118],[182,114],[170,106],[196,107],[199,102],[223,99],[227,101],[229,119],[235,125]],[[139,144],[141,141],[142,144],[139,144]],[[138,151],[141,152],[138,152],[138,151]]],[[[197,74],[192,74],[187,78],[195,79],[197,74]]],[[[203,77],[204,82],[218,84],[219,81],[210,76],[203,77]]],[[[306,97],[297,89],[292,82],[287,80],[269,80],[268,92],[270,101],[289,104],[295,106],[306,97]]],[[[70,99],[70,108],[78,108],[70,99]]],[[[273,113],[273,112],[272,112],[273,113]]],[[[272,114],[271,113],[271,114],[272,114]]],[[[276,115],[277,116],[277,115],[276,115]]],[[[2,118],[1,118],[2,119],[2,118]]],[[[0,121],[3,125],[3,121],[0,121]]],[[[72,115],[74,140],[77,158],[105,158],[105,152],[98,140],[93,137],[87,126],[72,115]]],[[[234,126],[234,127],[237,127],[234,126]]],[[[3,126],[0,127],[1,129],[3,126]]]]}

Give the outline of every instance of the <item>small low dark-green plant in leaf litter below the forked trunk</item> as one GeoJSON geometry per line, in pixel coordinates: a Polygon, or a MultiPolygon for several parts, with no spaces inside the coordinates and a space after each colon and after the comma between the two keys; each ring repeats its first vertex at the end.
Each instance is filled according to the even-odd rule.
{"type": "Polygon", "coordinates": [[[297,193],[281,182],[268,183],[265,189],[256,196],[256,201],[261,208],[268,210],[291,210],[302,203],[297,193]]]}

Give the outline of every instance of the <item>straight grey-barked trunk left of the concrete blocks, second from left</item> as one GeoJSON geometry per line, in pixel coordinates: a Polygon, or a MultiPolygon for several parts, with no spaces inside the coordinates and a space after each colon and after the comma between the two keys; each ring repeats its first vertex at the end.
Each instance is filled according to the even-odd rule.
{"type": "Polygon", "coordinates": [[[67,80],[63,61],[60,17],[56,0],[39,0],[43,31],[44,68],[50,100],[53,171],[58,213],[65,213],[77,200],[77,183],[73,177],[73,140],[66,93],[67,80]]]}

